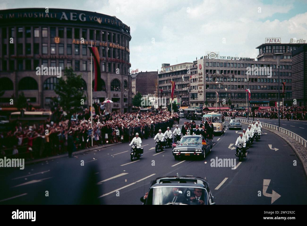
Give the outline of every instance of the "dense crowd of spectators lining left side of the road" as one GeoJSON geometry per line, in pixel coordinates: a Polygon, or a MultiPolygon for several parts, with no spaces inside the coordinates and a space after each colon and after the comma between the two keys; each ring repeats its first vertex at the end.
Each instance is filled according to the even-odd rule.
{"type": "Polygon", "coordinates": [[[165,131],[179,122],[177,113],[167,110],[153,112],[108,113],[95,104],[93,126],[88,109],[68,115],[60,107],[50,119],[33,124],[17,122],[14,129],[0,132],[0,156],[26,159],[41,158],[87,149],[93,145],[131,141],[136,133],[143,139],[153,137],[159,129],[165,131]]]}

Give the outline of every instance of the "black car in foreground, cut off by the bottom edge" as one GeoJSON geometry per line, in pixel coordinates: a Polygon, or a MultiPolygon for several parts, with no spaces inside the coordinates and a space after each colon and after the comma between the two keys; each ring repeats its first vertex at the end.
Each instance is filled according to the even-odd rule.
{"type": "Polygon", "coordinates": [[[144,205],[215,205],[209,184],[194,176],[158,177],[141,201],[144,205]]]}

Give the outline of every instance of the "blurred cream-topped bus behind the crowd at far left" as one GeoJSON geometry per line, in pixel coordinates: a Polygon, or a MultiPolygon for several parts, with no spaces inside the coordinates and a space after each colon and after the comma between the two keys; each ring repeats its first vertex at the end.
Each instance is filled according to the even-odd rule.
{"type": "Polygon", "coordinates": [[[25,111],[23,117],[21,117],[20,111],[12,112],[10,115],[10,122],[15,121],[31,121],[39,122],[50,119],[52,115],[51,111],[25,111]]]}

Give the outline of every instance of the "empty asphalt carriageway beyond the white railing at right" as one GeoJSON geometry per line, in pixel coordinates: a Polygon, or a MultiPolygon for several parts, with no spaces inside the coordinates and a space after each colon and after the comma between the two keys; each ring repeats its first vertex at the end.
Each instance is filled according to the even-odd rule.
{"type": "MultiPolygon", "coordinates": [[[[228,117],[228,116],[227,116],[228,117]]],[[[237,119],[247,119],[245,117],[236,117],[237,119]]],[[[262,119],[262,118],[255,118],[255,121],[259,119],[260,122],[269,123],[275,126],[278,126],[278,119],[262,119]]],[[[250,118],[253,120],[253,118],[250,118]]],[[[285,128],[287,130],[296,133],[297,135],[303,137],[307,140],[307,121],[299,121],[299,120],[287,120],[287,119],[280,119],[280,127],[285,128]]],[[[244,128],[244,126],[243,126],[244,128]]],[[[247,128],[245,128],[247,129],[247,128]]]]}

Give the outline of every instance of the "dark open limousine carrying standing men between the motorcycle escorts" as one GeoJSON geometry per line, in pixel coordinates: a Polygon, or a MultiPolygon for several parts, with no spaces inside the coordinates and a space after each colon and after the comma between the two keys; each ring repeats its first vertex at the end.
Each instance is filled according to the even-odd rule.
{"type": "Polygon", "coordinates": [[[211,152],[213,141],[202,135],[186,135],[173,149],[173,156],[177,160],[180,156],[200,156],[201,159],[211,152]]]}

